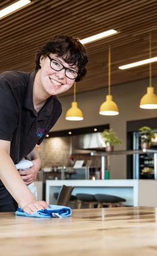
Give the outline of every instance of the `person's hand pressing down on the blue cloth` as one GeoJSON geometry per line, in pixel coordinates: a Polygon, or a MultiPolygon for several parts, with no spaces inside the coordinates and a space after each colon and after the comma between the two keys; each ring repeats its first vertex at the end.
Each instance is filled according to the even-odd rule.
{"type": "Polygon", "coordinates": [[[34,201],[28,203],[27,205],[20,206],[20,207],[27,214],[33,214],[33,212],[48,208],[48,204],[45,201],[34,200],[34,201]]]}

